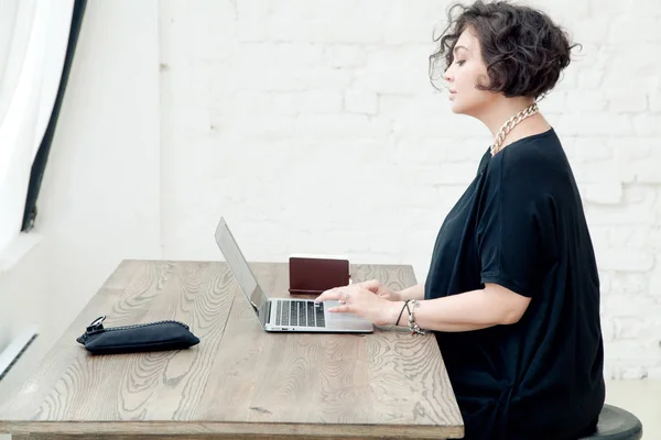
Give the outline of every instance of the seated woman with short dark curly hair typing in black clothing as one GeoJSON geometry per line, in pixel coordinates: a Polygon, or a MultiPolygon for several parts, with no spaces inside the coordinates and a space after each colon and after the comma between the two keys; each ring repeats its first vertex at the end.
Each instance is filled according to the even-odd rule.
{"type": "Polygon", "coordinates": [[[446,62],[452,110],[484,122],[492,145],[441,227],[424,284],[371,280],[317,300],[434,331],[466,439],[575,439],[594,432],[605,397],[599,279],[567,157],[535,105],[573,46],[527,7],[455,8],[431,61],[446,62]]]}

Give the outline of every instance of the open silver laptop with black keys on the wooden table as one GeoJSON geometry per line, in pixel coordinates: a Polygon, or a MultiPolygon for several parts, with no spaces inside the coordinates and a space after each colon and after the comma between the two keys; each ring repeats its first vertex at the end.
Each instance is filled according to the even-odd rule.
{"type": "Polygon", "coordinates": [[[260,287],[227,222],[220,218],[214,234],[220,252],[266,331],[369,333],[373,326],[354,314],[328,312],[336,300],[315,304],[312,299],[269,298],[260,287]]]}

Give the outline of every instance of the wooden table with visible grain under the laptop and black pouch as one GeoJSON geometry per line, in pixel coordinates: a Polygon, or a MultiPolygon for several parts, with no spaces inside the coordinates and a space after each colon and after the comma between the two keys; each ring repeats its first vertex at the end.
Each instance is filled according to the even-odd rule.
{"type": "MultiPolygon", "coordinates": [[[[251,266],[268,294],[289,295],[286,263],[251,266]]],[[[351,276],[415,284],[410,266],[353,265],[351,276]]],[[[464,435],[433,334],[267,333],[220,262],[122,262],[0,405],[0,432],[14,439],[464,435]],[[75,339],[101,315],[105,327],[181,320],[201,343],[91,355],[75,339]]]]}

